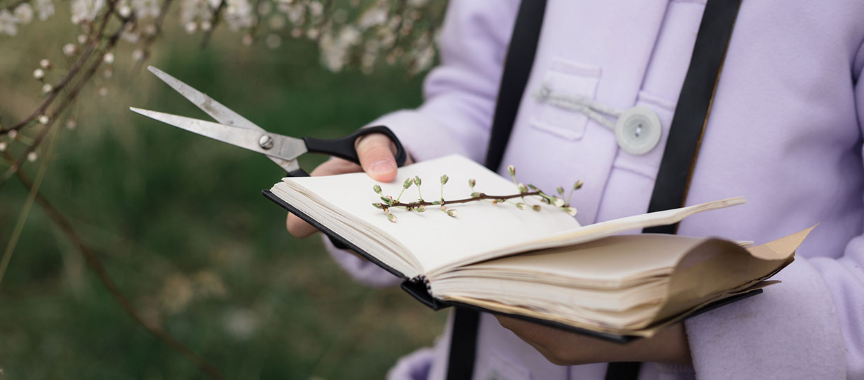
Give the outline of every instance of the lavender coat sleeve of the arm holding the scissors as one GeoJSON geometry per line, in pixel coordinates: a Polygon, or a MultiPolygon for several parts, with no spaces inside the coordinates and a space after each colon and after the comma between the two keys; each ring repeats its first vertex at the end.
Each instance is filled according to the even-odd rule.
{"type": "MultiPolygon", "coordinates": [[[[439,40],[441,64],[423,84],[425,101],[369,125],[386,125],[416,161],[458,153],[474,161],[486,154],[502,64],[518,10],[517,0],[451,0],[439,40]]],[[[359,282],[378,287],[401,280],[373,263],[324,244],[336,263],[359,282]]]]}

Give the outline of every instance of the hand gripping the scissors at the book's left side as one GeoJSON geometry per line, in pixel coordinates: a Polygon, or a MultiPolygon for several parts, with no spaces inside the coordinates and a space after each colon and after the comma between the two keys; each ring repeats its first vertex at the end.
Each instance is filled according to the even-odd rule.
{"type": "MultiPolygon", "coordinates": [[[[396,179],[397,165],[396,158],[394,158],[394,155],[396,155],[396,144],[390,140],[390,137],[380,133],[359,136],[354,146],[360,159],[359,165],[352,161],[334,158],[319,165],[309,175],[314,177],[318,175],[346,174],[362,171],[369,174],[372,179],[381,182],[390,182],[396,179]]],[[[410,160],[409,155],[405,164],[409,164],[410,160]]],[[[312,225],[292,214],[288,214],[285,226],[294,237],[308,237],[315,231],[318,231],[312,225]]]]}

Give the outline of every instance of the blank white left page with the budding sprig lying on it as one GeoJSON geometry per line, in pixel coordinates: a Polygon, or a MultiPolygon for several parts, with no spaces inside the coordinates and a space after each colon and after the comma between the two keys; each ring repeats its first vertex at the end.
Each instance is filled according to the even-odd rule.
{"type": "MultiPolygon", "coordinates": [[[[397,180],[393,183],[379,183],[363,173],[283,180],[293,181],[317,194],[334,207],[334,211],[353,214],[373,228],[394,237],[421,263],[423,272],[579,227],[575,218],[545,205],[540,212],[519,210],[511,204],[492,205],[488,202],[448,206],[457,210],[456,218],[449,217],[437,206],[428,206],[426,212],[422,213],[394,209],[392,213],[397,217],[396,223],[391,223],[383,212],[372,206],[372,203],[381,202],[378,194],[372,192],[374,185],[380,185],[384,195],[396,198],[402,190],[403,181],[415,175],[422,178],[423,199],[439,199],[442,174],[449,177],[444,186],[445,199],[469,197],[471,189],[468,180],[472,178],[477,180],[475,190],[481,193],[508,195],[518,192],[511,180],[461,155],[448,155],[399,168],[397,180]]],[[[416,199],[417,188],[412,185],[401,200],[410,202],[416,199]]]]}

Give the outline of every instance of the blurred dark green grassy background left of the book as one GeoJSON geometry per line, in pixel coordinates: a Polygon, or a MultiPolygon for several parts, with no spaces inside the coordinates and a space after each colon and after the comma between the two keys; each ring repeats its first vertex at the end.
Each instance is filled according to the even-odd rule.
{"type": "MultiPolygon", "coordinates": [[[[39,43],[46,33],[0,39],[4,122],[26,117],[39,100],[29,73],[60,55],[39,43]]],[[[222,33],[206,49],[192,37],[166,42],[149,64],[276,133],[340,136],[420,102],[419,78],[395,69],[329,73],[306,41],[275,50],[222,33]]],[[[399,289],[353,282],[319,238],[289,236],[283,209],[260,194],[281,177],[276,165],[127,111],[206,118],[121,61],[73,107],[78,127],[60,130],[41,192],[146,318],[228,378],[382,378],[399,356],[432,344],[445,314],[399,289]],[[99,97],[97,85],[108,94],[99,97]]],[[[304,157],[302,166],[321,161],[304,157]]],[[[40,162],[23,169],[33,177],[40,162]]],[[[15,179],[0,188],[3,245],[26,195],[15,179]]],[[[202,377],[124,314],[37,205],[0,284],[0,342],[8,378],[202,377]]]]}

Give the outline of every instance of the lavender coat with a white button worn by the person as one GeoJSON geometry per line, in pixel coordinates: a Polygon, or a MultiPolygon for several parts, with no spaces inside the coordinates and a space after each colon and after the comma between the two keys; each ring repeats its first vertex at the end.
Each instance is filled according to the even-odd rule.
{"type": "MultiPolygon", "coordinates": [[[[550,0],[526,94],[543,81],[620,110],[656,111],[664,135],[629,155],[584,115],[525,96],[503,163],[542,188],[585,181],[583,225],[645,212],[705,0],[550,0]]],[[[483,161],[517,0],[451,0],[442,65],[425,103],[374,123],[417,160],[483,161]]],[[[864,379],[864,2],[745,0],[735,24],[687,204],[743,195],[679,233],[765,243],[820,223],[765,294],[686,322],[693,366],[646,364],[643,379],[864,379]]],[[[332,250],[359,280],[397,279],[332,250]]],[[[449,325],[448,325],[449,328],[449,325]]],[[[558,366],[480,320],[474,378],[600,379],[607,364],[558,366]]],[[[442,379],[448,331],[391,378],[442,379]]]]}

